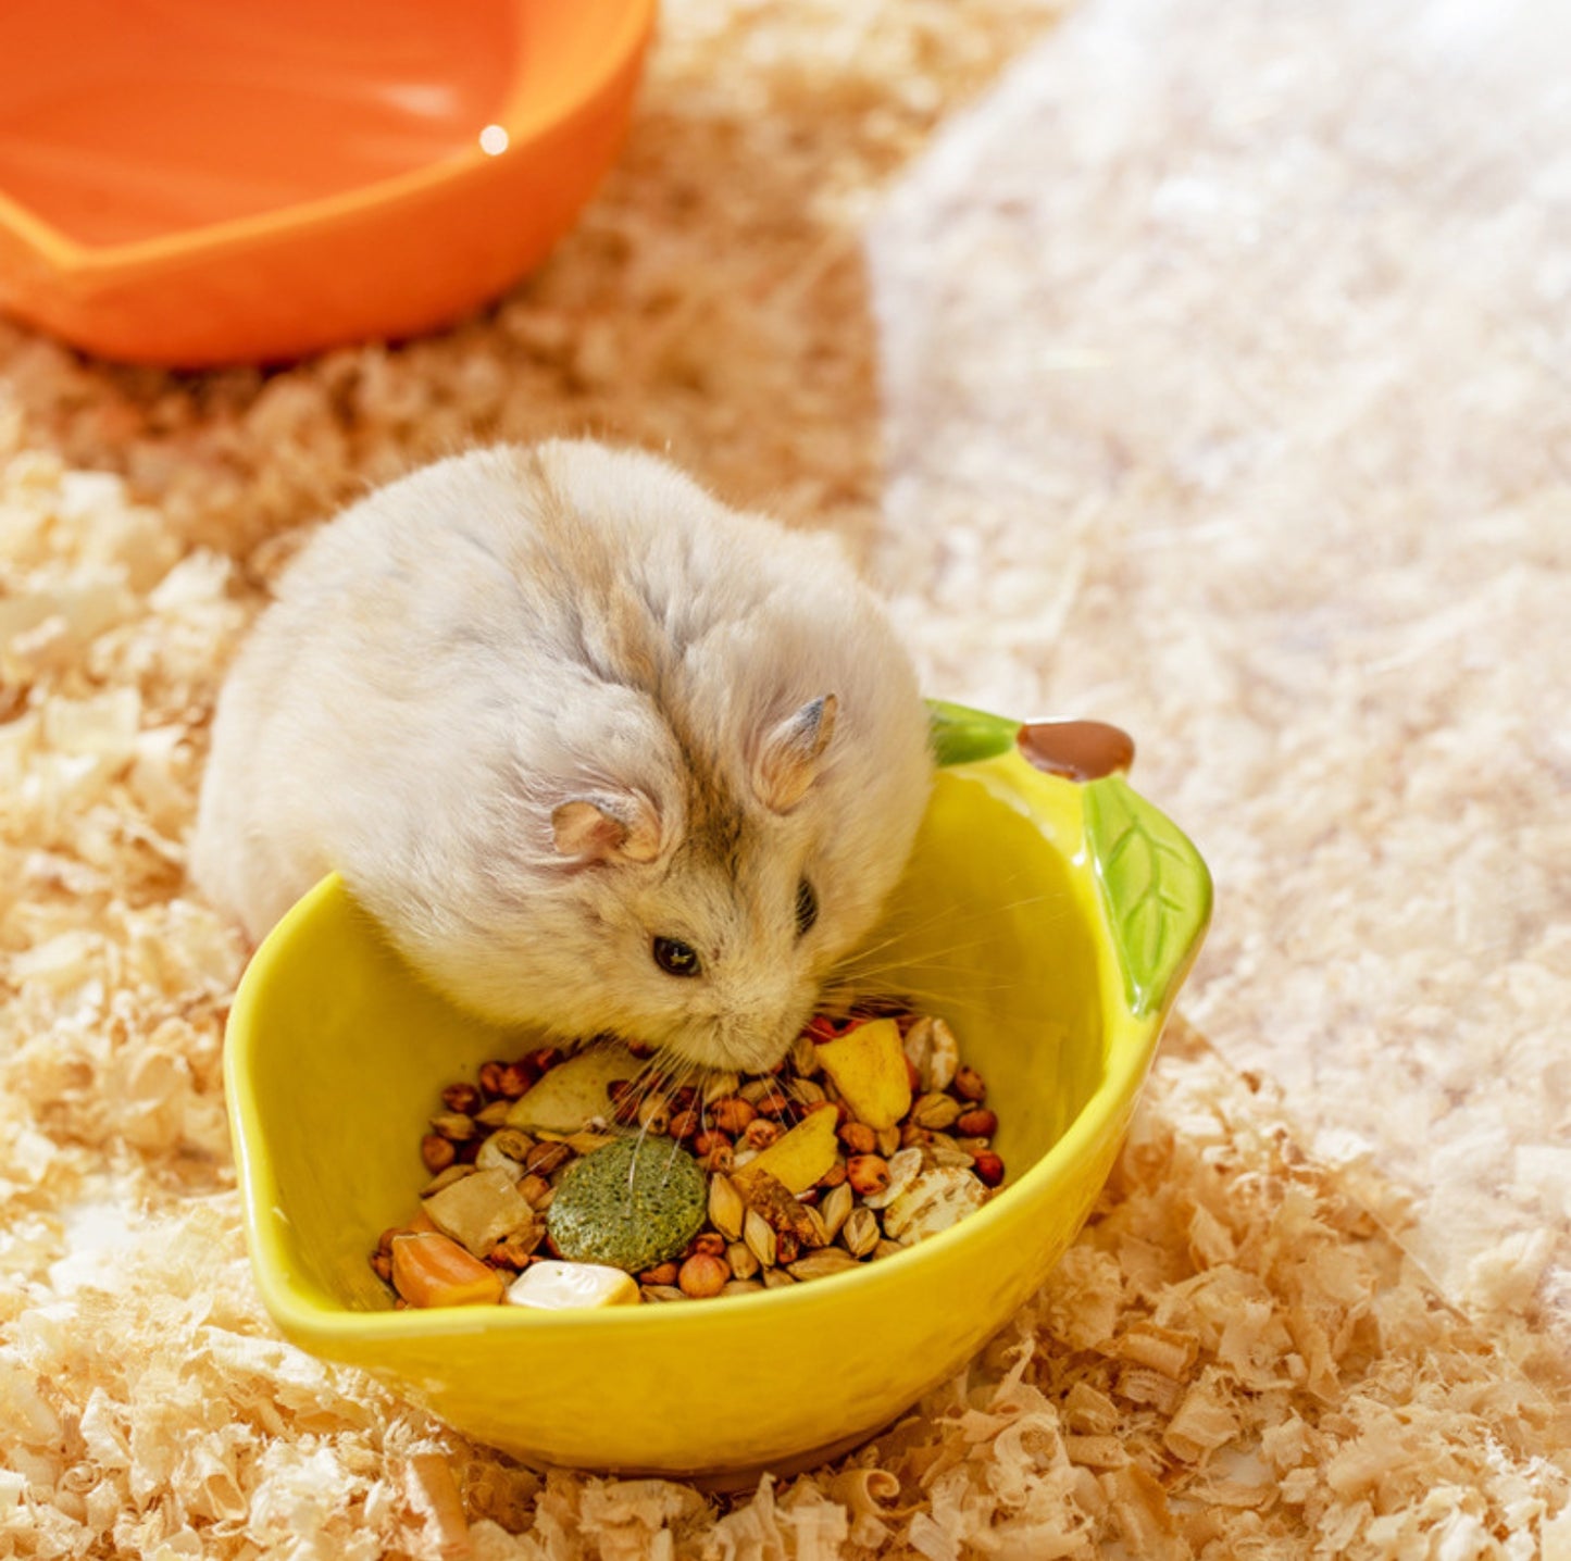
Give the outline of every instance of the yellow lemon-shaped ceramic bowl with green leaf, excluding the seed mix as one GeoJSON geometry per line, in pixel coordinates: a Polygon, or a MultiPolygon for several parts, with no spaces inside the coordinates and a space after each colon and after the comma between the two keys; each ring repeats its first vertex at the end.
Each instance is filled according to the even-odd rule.
{"type": "Polygon", "coordinates": [[[889,982],[950,1019],[990,1085],[1010,1176],[987,1208],[782,1291],[393,1310],[366,1258],[416,1206],[432,1102],[528,1040],[426,991],[330,878],[256,953],[228,1033],[248,1237],[278,1327],[528,1462],[694,1478],[834,1456],[958,1369],[1090,1211],[1203,936],[1210,878],[1120,774],[1046,774],[1015,722],[955,707],[935,707],[935,730],[944,768],[875,936],[892,939],[889,982]]]}

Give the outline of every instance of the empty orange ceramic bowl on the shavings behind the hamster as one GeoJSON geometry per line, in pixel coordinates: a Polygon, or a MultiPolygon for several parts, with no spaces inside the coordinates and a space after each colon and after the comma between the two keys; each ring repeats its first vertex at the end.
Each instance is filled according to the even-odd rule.
{"type": "Polygon", "coordinates": [[[5,0],[0,309],[108,358],[459,319],[567,231],[655,0],[5,0]]]}

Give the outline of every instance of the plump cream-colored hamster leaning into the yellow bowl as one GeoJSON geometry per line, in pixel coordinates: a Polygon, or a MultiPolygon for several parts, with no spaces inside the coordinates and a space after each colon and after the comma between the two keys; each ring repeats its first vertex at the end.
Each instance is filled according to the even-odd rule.
{"type": "Polygon", "coordinates": [[[932,780],[837,543],[589,441],[325,525],[218,702],[192,851],[251,939],[330,868],[426,980],[561,1036],[773,1065],[932,780]]]}

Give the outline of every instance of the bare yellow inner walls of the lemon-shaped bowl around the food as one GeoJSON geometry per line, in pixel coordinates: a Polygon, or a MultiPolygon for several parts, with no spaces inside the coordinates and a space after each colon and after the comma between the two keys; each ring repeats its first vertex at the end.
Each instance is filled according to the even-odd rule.
{"type": "MultiPolygon", "coordinates": [[[[990,766],[939,774],[864,956],[870,988],[911,993],[955,1027],[988,1080],[1012,1183],[1103,1084],[1115,991],[1089,875],[1054,843],[1059,826],[1078,837],[1076,788],[1027,779],[1032,810],[990,766]]],[[[253,961],[231,1021],[231,1110],[273,1299],[386,1311],[366,1253],[416,1206],[416,1145],[440,1088],[534,1043],[426,989],[336,879],[303,900],[253,961]]]]}

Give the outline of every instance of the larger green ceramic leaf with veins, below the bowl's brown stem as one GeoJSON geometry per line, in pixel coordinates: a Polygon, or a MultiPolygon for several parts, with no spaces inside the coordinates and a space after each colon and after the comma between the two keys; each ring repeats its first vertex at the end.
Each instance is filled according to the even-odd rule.
{"type": "Polygon", "coordinates": [[[1211,875],[1177,824],[1122,776],[1086,787],[1086,840],[1130,1010],[1161,1010],[1200,952],[1211,875]]]}

